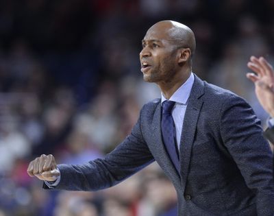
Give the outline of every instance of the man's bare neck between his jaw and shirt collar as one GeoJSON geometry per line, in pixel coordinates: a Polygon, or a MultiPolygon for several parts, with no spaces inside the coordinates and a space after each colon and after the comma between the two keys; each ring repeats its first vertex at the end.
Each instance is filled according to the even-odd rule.
{"type": "Polygon", "coordinates": [[[173,79],[158,83],[159,88],[162,91],[162,94],[166,99],[170,99],[171,96],[177,91],[177,89],[182,86],[190,77],[191,69],[184,71],[184,73],[177,73],[173,79]]]}

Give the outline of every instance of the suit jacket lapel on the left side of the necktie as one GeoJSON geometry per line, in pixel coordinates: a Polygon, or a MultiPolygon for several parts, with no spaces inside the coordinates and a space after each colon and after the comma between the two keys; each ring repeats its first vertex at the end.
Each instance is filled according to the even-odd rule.
{"type": "Polygon", "coordinates": [[[169,153],[166,151],[166,147],[164,146],[164,141],[162,140],[162,132],[161,132],[161,117],[162,117],[162,106],[161,103],[158,104],[153,120],[152,120],[152,128],[153,128],[153,135],[155,138],[155,149],[157,149],[158,154],[160,156],[160,160],[158,160],[158,163],[161,167],[168,167],[166,169],[167,172],[170,173],[173,178],[177,182],[180,182],[179,179],[179,173],[177,172],[177,169],[173,165],[171,158],[169,157],[169,153]]]}

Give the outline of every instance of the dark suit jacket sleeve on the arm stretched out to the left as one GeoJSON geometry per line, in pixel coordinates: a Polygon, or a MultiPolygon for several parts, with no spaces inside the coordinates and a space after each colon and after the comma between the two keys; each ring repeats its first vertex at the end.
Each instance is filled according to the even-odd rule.
{"type": "MultiPolygon", "coordinates": [[[[140,117],[132,132],[104,159],[83,165],[58,165],[60,183],[55,189],[97,191],[118,184],[154,161],[142,137],[140,117]]],[[[49,187],[44,184],[45,189],[49,187]]]]}

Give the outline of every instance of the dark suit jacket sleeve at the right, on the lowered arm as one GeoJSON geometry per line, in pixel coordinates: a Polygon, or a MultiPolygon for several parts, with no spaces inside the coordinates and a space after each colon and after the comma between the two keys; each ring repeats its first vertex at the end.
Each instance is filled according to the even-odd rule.
{"type": "Polygon", "coordinates": [[[258,215],[274,215],[273,154],[251,107],[232,95],[223,104],[221,137],[256,195],[258,215]]]}

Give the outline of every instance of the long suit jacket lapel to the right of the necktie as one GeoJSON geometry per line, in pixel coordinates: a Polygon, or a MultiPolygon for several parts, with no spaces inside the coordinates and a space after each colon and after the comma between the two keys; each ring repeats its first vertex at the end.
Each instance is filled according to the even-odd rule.
{"type": "Polygon", "coordinates": [[[188,176],[188,167],[192,151],[192,144],[195,137],[197,121],[203,100],[199,99],[203,95],[203,82],[195,75],[195,82],[192,86],[190,97],[188,98],[188,106],[184,117],[184,125],[182,128],[181,143],[179,149],[181,180],[183,190],[186,186],[188,176]]]}

